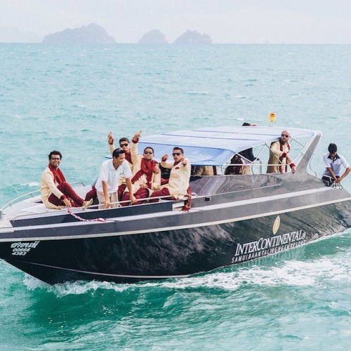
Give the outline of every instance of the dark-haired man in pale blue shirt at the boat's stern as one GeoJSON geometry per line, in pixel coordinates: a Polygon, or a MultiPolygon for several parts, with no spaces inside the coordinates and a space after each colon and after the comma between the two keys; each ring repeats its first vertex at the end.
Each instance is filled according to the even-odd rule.
{"type": "Polygon", "coordinates": [[[351,167],[345,157],[337,153],[338,147],[336,144],[330,143],[328,151],[323,154],[323,163],[326,166],[326,170],[323,173],[322,180],[327,187],[330,187],[333,183],[340,183],[350,173],[351,167]],[[343,176],[340,176],[341,166],[345,167],[343,176]]]}

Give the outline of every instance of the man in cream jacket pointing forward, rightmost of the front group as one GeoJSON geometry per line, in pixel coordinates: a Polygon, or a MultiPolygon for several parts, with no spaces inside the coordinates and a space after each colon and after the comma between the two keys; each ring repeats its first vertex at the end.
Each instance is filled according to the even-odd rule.
{"type": "MultiPolygon", "coordinates": [[[[190,182],[190,162],[184,158],[184,151],[181,147],[173,147],[173,160],[174,162],[167,162],[168,154],[162,157],[161,166],[170,168],[171,173],[169,175],[168,183],[161,185],[161,190],[153,192],[151,197],[166,197],[169,198],[184,199],[185,194],[189,188],[190,182]]],[[[157,202],[158,199],[154,199],[150,202],[157,202]]]]}

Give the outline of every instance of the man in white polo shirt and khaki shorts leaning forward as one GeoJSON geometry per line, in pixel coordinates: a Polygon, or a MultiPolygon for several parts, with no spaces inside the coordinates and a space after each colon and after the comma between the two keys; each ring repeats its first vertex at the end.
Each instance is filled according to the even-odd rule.
{"type": "Polygon", "coordinates": [[[118,187],[121,176],[126,179],[126,187],[130,192],[129,199],[133,204],[135,197],[132,191],[131,167],[126,161],[126,155],[121,148],[115,149],[112,153],[112,159],[102,163],[98,180],[96,180],[96,191],[98,194],[99,208],[117,207],[118,205],[118,187]]]}

